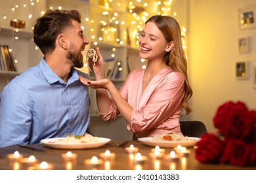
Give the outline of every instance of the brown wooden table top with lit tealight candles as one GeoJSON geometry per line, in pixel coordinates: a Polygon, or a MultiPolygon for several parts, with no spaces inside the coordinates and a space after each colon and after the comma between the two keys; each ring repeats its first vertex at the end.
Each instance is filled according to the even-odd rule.
{"type": "MultiPolygon", "coordinates": [[[[115,141],[116,142],[116,141],[115,141]]],[[[10,162],[7,159],[8,154],[13,154],[15,151],[20,152],[24,157],[29,157],[31,155],[35,156],[38,159],[38,163],[46,161],[54,165],[53,169],[65,170],[65,169],[74,169],[74,170],[83,170],[83,169],[92,169],[89,165],[84,163],[85,159],[91,159],[93,156],[99,158],[100,153],[104,153],[106,150],[110,150],[116,154],[116,159],[112,161],[103,161],[102,165],[97,169],[110,169],[110,170],[134,170],[134,169],[143,169],[143,170],[234,170],[234,169],[251,169],[255,170],[256,167],[238,167],[235,165],[224,165],[224,164],[203,164],[197,161],[194,156],[194,148],[189,148],[191,153],[186,158],[181,158],[177,163],[169,162],[167,159],[163,158],[160,160],[153,159],[149,156],[150,151],[154,147],[145,146],[139,141],[130,141],[125,146],[116,146],[114,141],[105,144],[100,148],[93,149],[82,149],[82,150],[64,150],[64,149],[54,149],[49,148],[43,144],[31,144],[30,146],[42,148],[43,151],[31,150],[28,148],[20,146],[9,146],[5,148],[0,148],[0,169],[2,170],[12,170],[12,169],[28,169],[28,166],[18,163],[19,165],[14,165],[13,162],[10,162]],[[136,165],[131,159],[130,155],[125,152],[125,147],[129,147],[130,144],[133,144],[135,147],[139,148],[140,154],[146,156],[148,159],[142,165],[136,165]],[[77,161],[73,163],[66,163],[62,160],[61,154],[66,154],[66,152],[71,151],[72,153],[77,154],[77,161]]],[[[165,154],[169,154],[173,148],[165,148],[165,154]]],[[[17,163],[16,163],[17,164],[17,163]]]]}

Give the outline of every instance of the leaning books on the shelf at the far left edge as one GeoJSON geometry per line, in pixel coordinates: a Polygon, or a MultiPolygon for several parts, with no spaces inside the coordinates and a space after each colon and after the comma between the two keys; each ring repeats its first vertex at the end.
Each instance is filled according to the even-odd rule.
{"type": "Polygon", "coordinates": [[[0,68],[1,71],[16,71],[12,54],[9,51],[8,45],[0,45],[0,68]]]}

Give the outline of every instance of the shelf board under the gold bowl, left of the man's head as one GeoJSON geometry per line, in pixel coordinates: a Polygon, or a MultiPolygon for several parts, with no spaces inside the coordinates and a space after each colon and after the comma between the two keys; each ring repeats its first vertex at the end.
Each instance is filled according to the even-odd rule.
{"type": "Polygon", "coordinates": [[[9,37],[12,37],[14,35],[14,36],[18,36],[26,39],[32,39],[33,37],[33,32],[28,29],[16,29],[16,28],[12,29],[11,27],[5,27],[5,26],[0,27],[0,34],[7,35],[9,37]]]}

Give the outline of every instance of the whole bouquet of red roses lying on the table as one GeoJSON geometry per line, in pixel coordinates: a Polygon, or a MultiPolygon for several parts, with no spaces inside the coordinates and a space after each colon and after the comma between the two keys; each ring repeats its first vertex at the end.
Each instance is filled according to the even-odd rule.
{"type": "Polygon", "coordinates": [[[229,101],[213,118],[218,134],[206,133],[196,146],[196,159],[202,163],[256,165],[256,111],[244,103],[229,101]]]}

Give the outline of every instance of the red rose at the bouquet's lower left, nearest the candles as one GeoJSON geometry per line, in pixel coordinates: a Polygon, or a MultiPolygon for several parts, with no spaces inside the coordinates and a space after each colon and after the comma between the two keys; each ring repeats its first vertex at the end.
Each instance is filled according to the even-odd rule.
{"type": "Polygon", "coordinates": [[[214,134],[205,133],[197,142],[196,159],[202,163],[219,163],[223,154],[224,142],[214,134]]]}

